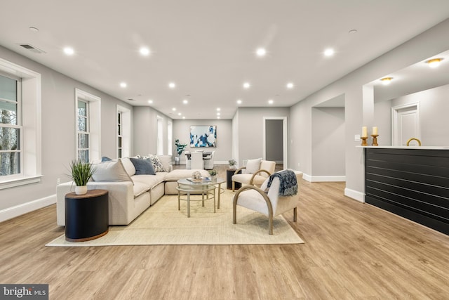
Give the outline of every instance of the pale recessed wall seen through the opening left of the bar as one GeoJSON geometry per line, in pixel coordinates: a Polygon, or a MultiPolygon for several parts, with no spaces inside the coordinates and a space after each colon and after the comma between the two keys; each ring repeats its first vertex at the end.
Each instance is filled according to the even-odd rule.
{"type": "Polygon", "coordinates": [[[344,107],[312,107],[311,117],[312,181],[344,178],[344,107]]]}

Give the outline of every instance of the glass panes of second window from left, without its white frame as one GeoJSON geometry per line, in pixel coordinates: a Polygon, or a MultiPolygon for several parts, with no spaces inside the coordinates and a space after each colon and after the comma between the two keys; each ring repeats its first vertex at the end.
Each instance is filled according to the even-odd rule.
{"type": "Polygon", "coordinates": [[[78,100],[76,109],[78,120],[78,160],[80,162],[89,162],[89,103],[78,100]]]}

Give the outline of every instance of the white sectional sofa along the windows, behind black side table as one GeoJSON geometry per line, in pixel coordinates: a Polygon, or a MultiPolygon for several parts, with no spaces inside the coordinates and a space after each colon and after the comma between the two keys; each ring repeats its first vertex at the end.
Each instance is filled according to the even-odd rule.
{"type": "MultiPolygon", "coordinates": [[[[129,158],[95,164],[97,171],[88,183],[88,190],[109,191],[109,225],[128,225],[163,195],[177,194],[177,180],[191,177],[194,171],[208,176],[206,170],[173,170],[171,155],[157,155],[161,162],[155,175],[139,174],[129,158]]],[[[65,195],[74,192],[72,182],[56,188],[57,223],[65,226],[65,195]]]]}

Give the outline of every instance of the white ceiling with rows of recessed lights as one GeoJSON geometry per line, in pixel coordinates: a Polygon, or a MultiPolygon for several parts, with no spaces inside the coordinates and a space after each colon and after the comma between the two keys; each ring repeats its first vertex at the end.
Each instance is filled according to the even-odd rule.
{"type": "Polygon", "coordinates": [[[237,99],[246,107],[297,103],[448,18],[449,1],[41,0],[2,1],[1,11],[1,46],[131,105],[152,99],[173,119],[215,119],[217,107],[230,119],[237,99]],[[140,56],[141,46],[152,53],[140,56]],[[264,58],[255,56],[259,47],[264,58]],[[323,56],[328,47],[335,56],[323,56]]]}

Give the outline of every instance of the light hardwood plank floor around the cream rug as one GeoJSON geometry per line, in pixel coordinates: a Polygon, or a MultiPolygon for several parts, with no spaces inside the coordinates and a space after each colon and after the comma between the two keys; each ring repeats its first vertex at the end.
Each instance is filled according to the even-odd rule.
{"type": "Polygon", "coordinates": [[[301,182],[293,245],[45,247],[64,233],[52,205],[0,223],[0,283],[48,283],[50,299],[448,299],[449,236],[343,190],[301,182]]]}

